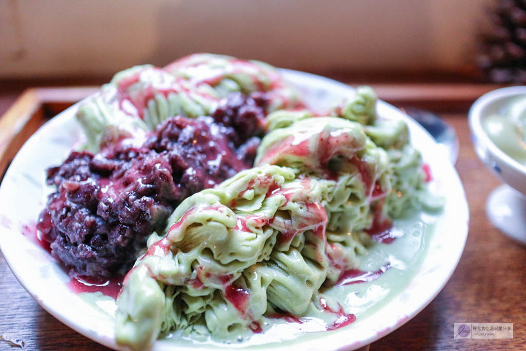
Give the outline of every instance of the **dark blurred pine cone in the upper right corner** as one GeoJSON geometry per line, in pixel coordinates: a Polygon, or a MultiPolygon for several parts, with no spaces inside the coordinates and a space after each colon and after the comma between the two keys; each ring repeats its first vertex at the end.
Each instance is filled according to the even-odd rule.
{"type": "Polygon", "coordinates": [[[526,83],[526,0],[497,0],[488,13],[492,27],[480,36],[477,62],[493,83],[526,83]]]}

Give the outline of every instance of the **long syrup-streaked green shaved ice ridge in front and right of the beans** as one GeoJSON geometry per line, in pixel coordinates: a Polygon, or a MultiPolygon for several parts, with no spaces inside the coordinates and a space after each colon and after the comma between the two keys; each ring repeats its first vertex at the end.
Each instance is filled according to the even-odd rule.
{"type": "Polygon", "coordinates": [[[396,148],[404,137],[389,137],[383,149],[365,126],[338,117],[299,118],[267,134],[257,167],[190,196],[165,233],[150,237],[118,299],[117,329],[144,329],[133,318],[142,310],[161,310],[163,322],[154,328],[147,318],[147,336],[119,342],[140,345],[176,329],[226,338],[276,310],[319,309],[318,289],[357,266],[376,217],[389,221],[417,206],[420,154],[396,148]],[[154,282],[161,301],[130,308],[154,282]]]}

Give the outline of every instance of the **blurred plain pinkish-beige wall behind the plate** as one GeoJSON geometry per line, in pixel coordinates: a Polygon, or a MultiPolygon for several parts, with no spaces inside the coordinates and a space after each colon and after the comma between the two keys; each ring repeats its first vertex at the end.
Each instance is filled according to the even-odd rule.
{"type": "Polygon", "coordinates": [[[464,72],[491,0],[0,0],[0,78],[106,76],[194,52],[311,72],[464,72]]]}

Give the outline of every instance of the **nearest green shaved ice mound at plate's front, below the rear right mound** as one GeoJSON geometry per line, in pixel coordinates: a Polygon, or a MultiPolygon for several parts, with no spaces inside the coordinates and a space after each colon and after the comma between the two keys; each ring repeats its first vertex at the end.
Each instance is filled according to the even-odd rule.
{"type": "Polygon", "coordinates": [[[259,320],[269,306],[304,313],[329,266],[324,192],[316,180],[267,165],[187,198],[171,215],[166,235],[153,235],[125,279],[119,342],[140,348],[159,331],[174,329],[206,328],[225,337],[259,320]],[[166,296],[158,295],[155,282],[166,296]],[[162,311],[160,325],[135,318],[151,310],[162,311]],[[139,339],[126,333],[144,329],[139,339]]]}

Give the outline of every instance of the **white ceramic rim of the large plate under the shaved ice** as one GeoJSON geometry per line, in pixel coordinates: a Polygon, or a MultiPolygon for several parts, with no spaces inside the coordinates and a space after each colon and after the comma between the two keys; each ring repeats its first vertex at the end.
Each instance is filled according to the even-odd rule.
{"type": "MultiPolygon", "coordinates": [[[[317,106],[330,106],[352,93],[352,88],[331,79],[311,74],[282,70],[285,79],[317,106]]],[[[69,277],[57,262],[28,236],[45,204],[44,170],[63,162],[82,137],[74,114],[78,104],[60,113],[40,128],[20,149],[0,187],[0,248],[9,267],[29,294],[50,314],[67,326],[108,347],[119,347],[114,340],[112,318],[91,305],[67,287],[69,277]]],[[[317,338],[294,340],[302,350],[355,349],[367,345],[400,327],[414,317],[440,292],[462,254],[468,235],[468,205],[459,176],[432,137],[399,109],[378,103],[378,114],[400,118],[410,129],[413,145],[422,152],[433,172],[433,183],[447,199],[420,268],[402,293],[383,307],[357,322],[317,338]]],[[[160,340],[154,349],[175,347],[160,340]]],[[[178,349],[209,349],[210,345],[178,346],[178,349]]],[[[262,345],[264,347],[264,345],[262,345]]],[[[274,349],[286,349],[277,346],[274,349]]],[[[213,347],[216,348],[216,347],[213,347]]],[[[257,347],[261,349],[261,347],[257,347]]]]}

